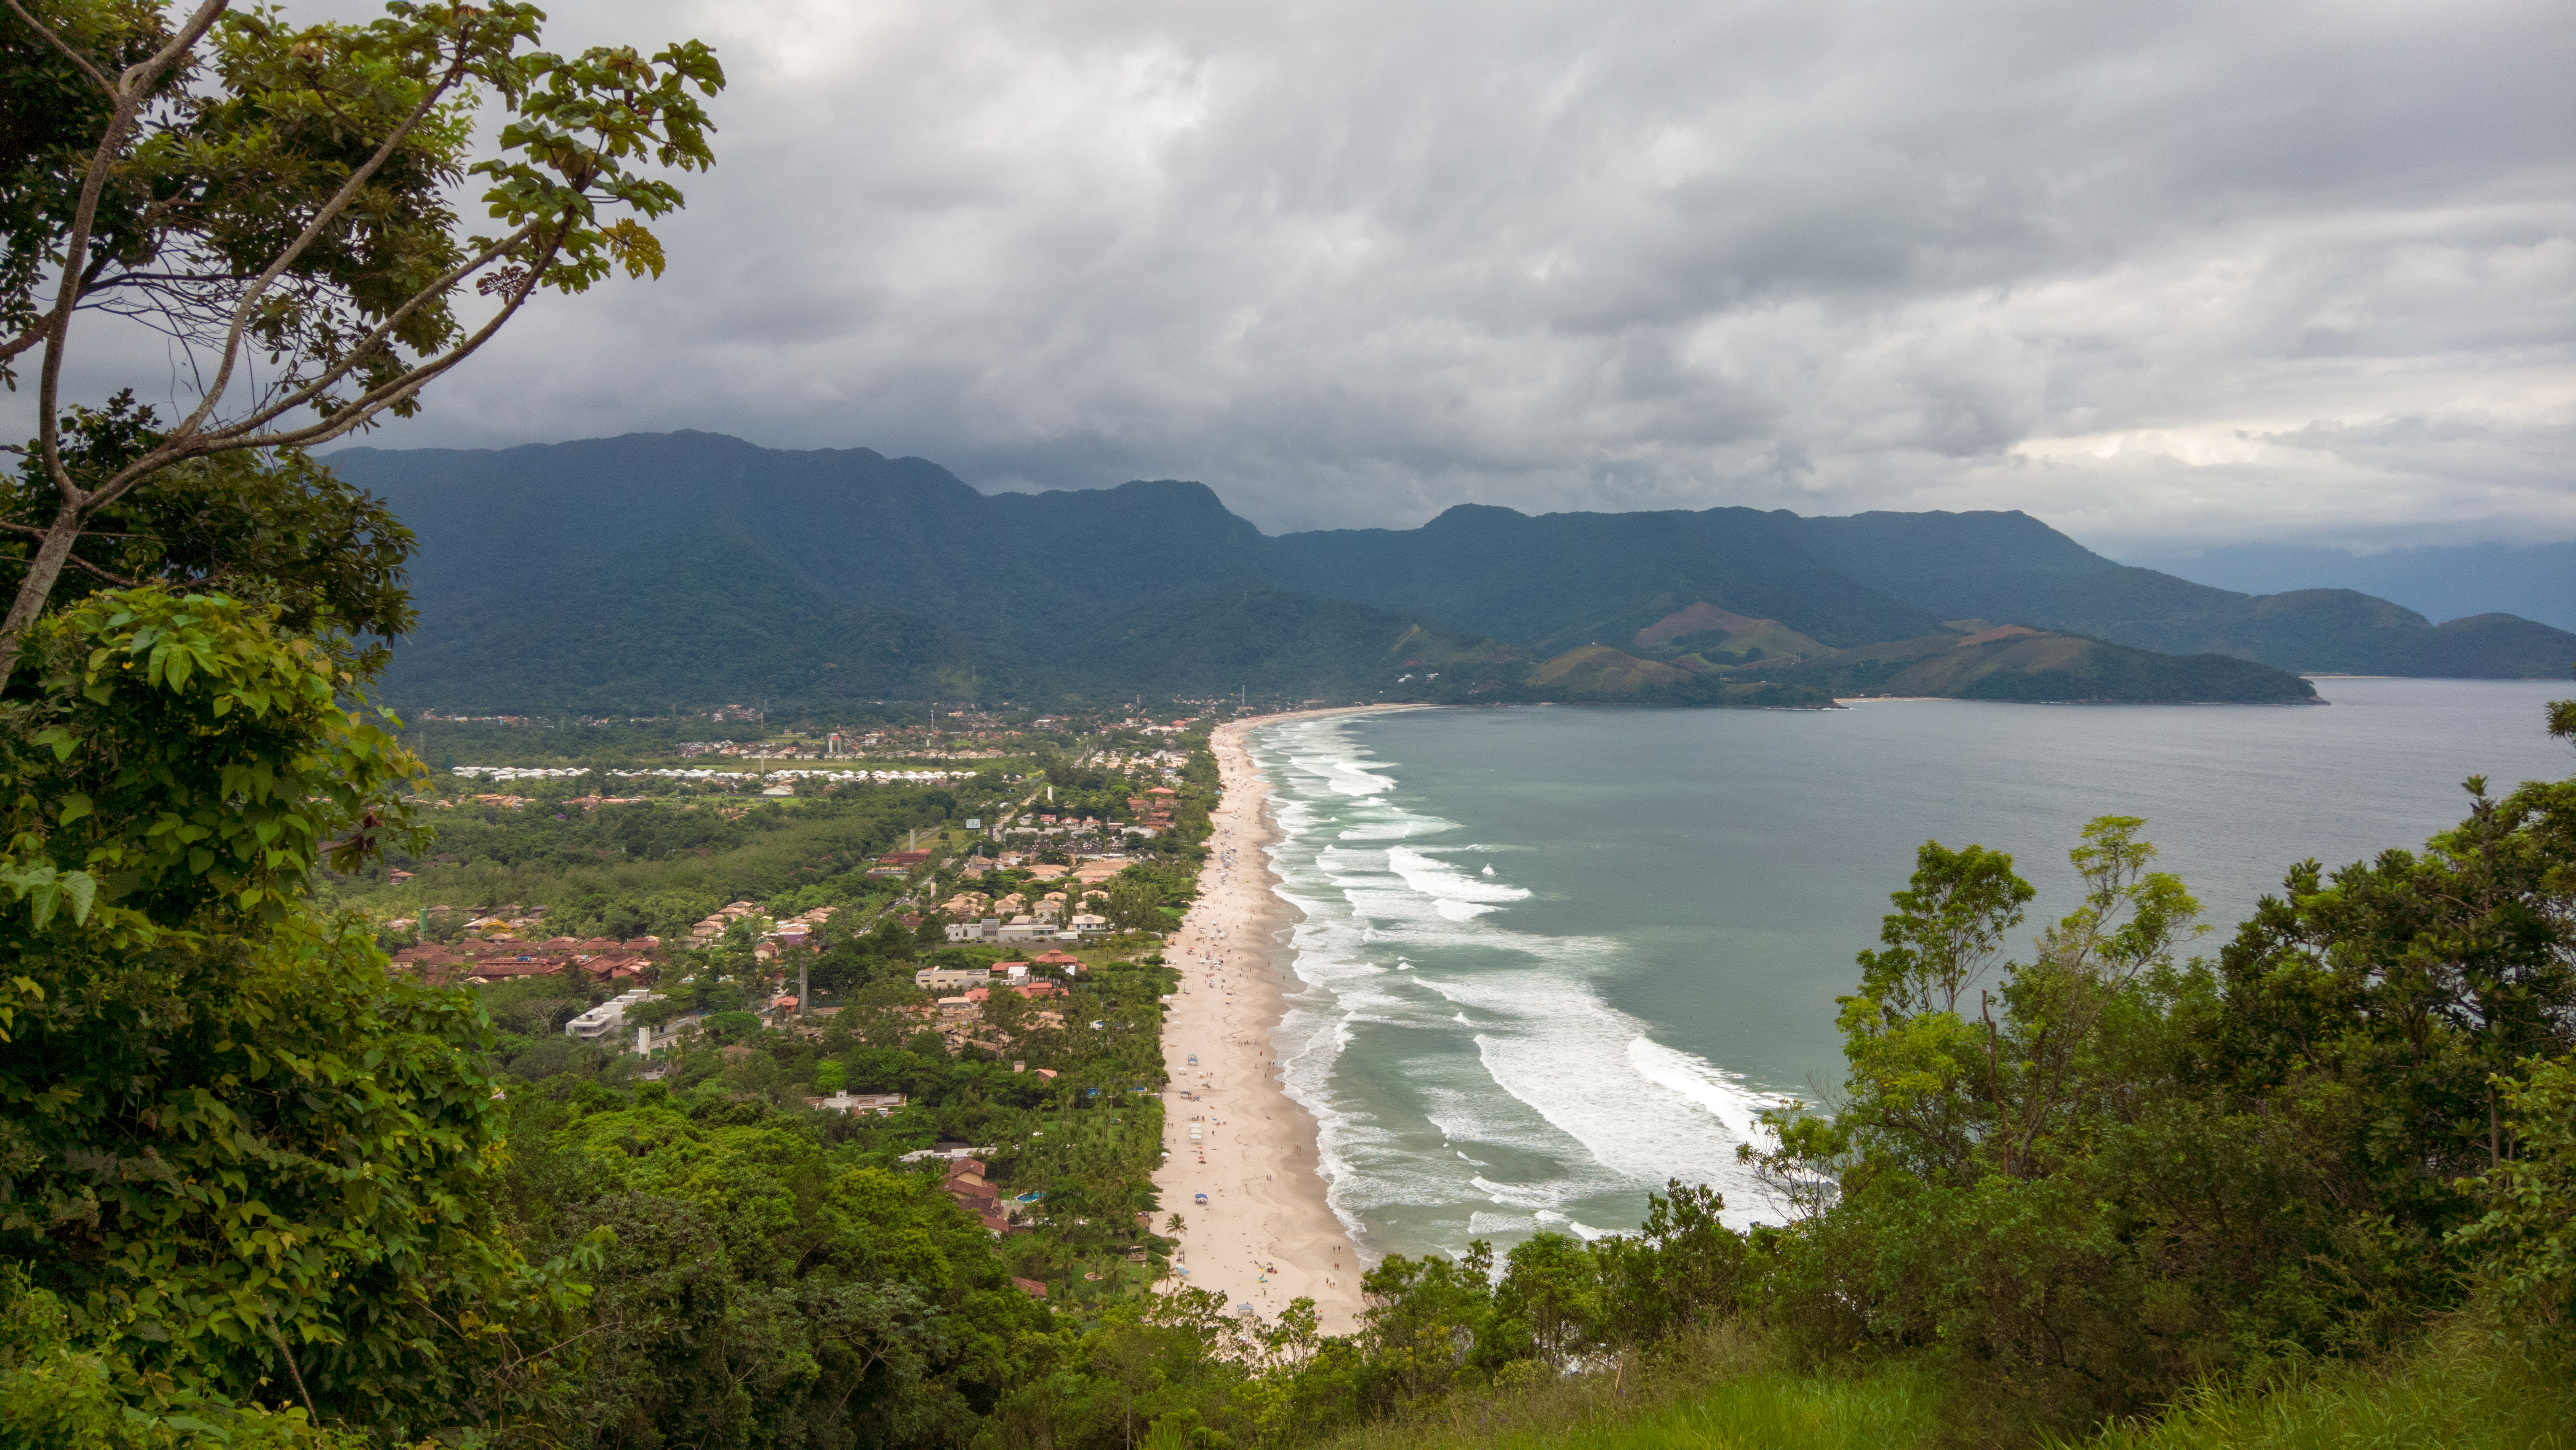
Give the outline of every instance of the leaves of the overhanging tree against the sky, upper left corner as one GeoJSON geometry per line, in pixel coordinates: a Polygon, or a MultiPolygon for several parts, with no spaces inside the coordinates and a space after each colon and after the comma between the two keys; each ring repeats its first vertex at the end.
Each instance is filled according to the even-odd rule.
{"type": "MultiPolygon", "coordinates": [[[[44,77],[36,85],[67,106],[49,116],[57,144],[28,137],[28,152],[10,157],[26,178],[26,191],[10,191],[10,314],[33,314],[41,281],[21,255],[62,247],[82,221],[98,252],[80,278],[90,299],[131,296],[155,278],[167,286],[178,258],[204,265],[206,283],[276,265],[283,286],[255,312],[255,335],[289,368],[276,391],[314,389],[317,399],[340,379],[366,389],[402,379],[407,363],[453,345],[464,332],[453,299],[471,260],[518,268],[518,288],[580,291],[611,268],[657,273],[649,234],[603,214],[659,216],[680,203],[667,180],[636,167],[708,165],[708,124],[688,93],[724,85],[693,41],[649,62],[605,46],[536,52],[541,13],[528,5],[399,3],[371,23],[319,26],[273,10],[219,13],[211,33],[121,82],[144,82],[160,103],[108,137],[103,201],[85,219],[80,180],[113,106],[75,77],[113,77],[175,28],[162,5],[31,10],[59,46],[13,15],[8,54],[23,70],[8,90],[18,75],[44,77]],[[198,85],[180,90],[185,80],[198,85]],[[471,155],[474,100],[507,116],[484,160],[471,155]],[[482,203],[505,237],[456,234],[451,188],[466,175],[484,178],[482,203]],[[178,196],[191,203],[167,206],[178,196]],[[314,234],[289,247],[307,227],[314,234]]],[[[178,309],[232,309],[227,291],[188,286],[185,268],[180,278],[178,309]]]]}

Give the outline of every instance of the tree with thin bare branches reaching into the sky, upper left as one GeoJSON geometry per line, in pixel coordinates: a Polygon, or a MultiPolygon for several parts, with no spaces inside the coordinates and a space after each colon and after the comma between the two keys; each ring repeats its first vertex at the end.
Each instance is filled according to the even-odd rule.
{"type": "Polygon", "coordinates": [[[23,541],[0,685],[75,546],[124,500],[224,456],[294,469],[281,451],[415,412],[538,288],[659,276],[639,216],[680,191],[644,173],[711,162],[698,98],[724,72],[698,41],[546,54],[541,21],[402,0],[366,26],[296,28],[227,0],[185,15],[5,0],[0,381],[36,355],[26,487],[52,507],[44,523],[15,518],[26,500],[0,510],[23,541]],[[502,116],[482,157],[477,108],[502,116]],[[492,234],[459,234],[469,178],[492,234]],[[95,332],[77,325],[103,317],[170,337],[191,391],[167,422],[121,410],[106,448],[62,394],[95,332]]]}

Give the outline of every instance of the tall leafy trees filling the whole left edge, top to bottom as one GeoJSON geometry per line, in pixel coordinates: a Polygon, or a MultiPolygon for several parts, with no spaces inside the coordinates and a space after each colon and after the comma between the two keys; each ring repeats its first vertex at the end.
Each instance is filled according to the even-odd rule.
{"type": "Polygon", "coordinates": [[[312,904],[319,860],[404,832],[417,762],[350,706],[410,533],[301,448],[415,412],[544,286],[659,273],[639,219],[680,193],[647,173],[708,162],[706,46],[567,59],[541,18],[0,0],[0,381],[39,412],[0,487],[0,1404],[31,1442],[507,1440],[574,1383],[598,1244],[502,1231],[482,1012],[312,904]],[[170,340],[178,417],[64,394],[116,327],[170,340]]]}

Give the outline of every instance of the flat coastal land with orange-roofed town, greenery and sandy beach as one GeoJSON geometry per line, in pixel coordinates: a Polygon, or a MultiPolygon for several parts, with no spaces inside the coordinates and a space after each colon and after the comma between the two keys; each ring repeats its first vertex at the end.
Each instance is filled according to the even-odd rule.
{"type": "Polygon", "coordinates": [[[1363,1262],[1267,1048],[1285,907],[1231,713],[961,711],[577,762],[513,760],[544,724],[430,716],[438,845],[335,886],[397,974],[479,994],[513,1071],[842,1123],[1064,1308],[1195,1288],[1350,1329],[1363,1262]],[[446,757],[459,737],[502,760],[446,757]],[[768,889],[675,889],[791,837],[809,860],[770,852],[768,889]]]}

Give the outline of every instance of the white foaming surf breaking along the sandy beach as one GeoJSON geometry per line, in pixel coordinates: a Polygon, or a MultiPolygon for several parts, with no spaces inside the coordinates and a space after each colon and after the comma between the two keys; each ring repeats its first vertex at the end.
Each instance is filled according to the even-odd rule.
{"type": "Polygon", "coordinates": [[[1734,1146],[1765,1097],[1600,999],[1592,979],[1615,966],[1615,940],[1507,925],[1507,907],[1533,894],[1502,881],[1497,860],[1528,845],[1437,845],[1455,824],[1399,804],[1401,767],[1355,749],[1340,721],[1255,731],[1252,747],[1278,783],[1267,855],[1301,912],[1291,945],[1309,984],[1278,1028],[1280,1077],[1316,1120],[1327,1200],[1355,1234],[1378,1210],[1419,1223],[1419,1210],[1455,1208],[1471,1236],[1548,1226],[1589,1239],[1600,1231],[1569,1208],[1667,1177],[1713,1182],[1744,1208],[1731,1221],[1752,1218],[1734,1146]],[[1406,1048],[1345,1079],[1358,1033],[1386,1028],[1399,1035],[1373,1035],[1368,1051],[1435,1030],[1473,1056],[1406,1048]],[[1414,1107],[1365,1082],[1401,1082],[1414,1107]],[[1422,1128],[1450,1151],[1427,1154],[1422,1128]],[[1473,1144],[1504,1154],[1468,1156],[1473,1144]],[[1484,1177],[1489,1159],[1517,1182],[1484,1177]]]}

